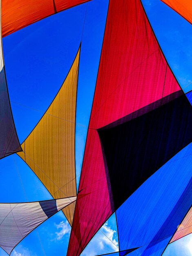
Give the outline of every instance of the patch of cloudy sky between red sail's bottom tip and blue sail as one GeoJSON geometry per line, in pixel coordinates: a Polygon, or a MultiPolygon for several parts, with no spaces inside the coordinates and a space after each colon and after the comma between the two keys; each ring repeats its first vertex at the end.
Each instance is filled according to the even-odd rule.
{"type": "Polygon", "coordinates": [[[106,222],[87,245],[82,255],[94,256],[117,251],[118,241],[116,240],[116,230],[112,229],[108,225],[108,222],[106,222]]]}

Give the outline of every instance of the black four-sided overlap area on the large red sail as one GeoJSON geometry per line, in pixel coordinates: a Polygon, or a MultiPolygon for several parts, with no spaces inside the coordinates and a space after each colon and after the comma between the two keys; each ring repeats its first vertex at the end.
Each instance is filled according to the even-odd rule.
{"type": "Polygon", "coordinates": [[[192,106],[179,92],[98,131],[115,210],[192,141],[192,106]],[[156,106],[159,108],[145,113],[156,106]]]}

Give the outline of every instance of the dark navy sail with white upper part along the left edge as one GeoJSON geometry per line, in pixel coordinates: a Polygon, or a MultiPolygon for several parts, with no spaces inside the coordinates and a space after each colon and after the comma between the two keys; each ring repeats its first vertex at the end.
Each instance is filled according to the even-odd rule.
{"type": "Polygon", "coordinates": [[[0,159],[18,151],[21,151],[21,147],[11,112],[0,40],[0,159]]]}

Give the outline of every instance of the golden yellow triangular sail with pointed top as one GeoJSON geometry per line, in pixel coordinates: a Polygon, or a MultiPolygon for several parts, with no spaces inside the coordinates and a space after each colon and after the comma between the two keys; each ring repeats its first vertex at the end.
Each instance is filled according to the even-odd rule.
{"type": "MultiPolygon", "coordinates": [[[[75,119],[80,49],[73,65],[42,119],[22,143],[18,155],[29,165],[51,195],[76,196],[75,119]]],[[[70,225],[74,203],[63,209],[70,225]]]]}

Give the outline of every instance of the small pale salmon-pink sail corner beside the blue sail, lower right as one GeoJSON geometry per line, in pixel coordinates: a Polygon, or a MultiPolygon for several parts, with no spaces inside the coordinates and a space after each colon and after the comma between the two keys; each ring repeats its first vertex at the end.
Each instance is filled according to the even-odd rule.
{"type": "Polygon", "coordinates": [[[179,225],[170,243],[182,238],[183,236],[187,236],[191,233],[192,233],[192,208],[189,210],[184,220],[179,225]]]}

